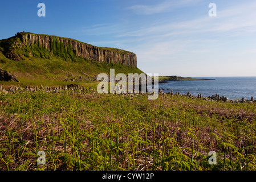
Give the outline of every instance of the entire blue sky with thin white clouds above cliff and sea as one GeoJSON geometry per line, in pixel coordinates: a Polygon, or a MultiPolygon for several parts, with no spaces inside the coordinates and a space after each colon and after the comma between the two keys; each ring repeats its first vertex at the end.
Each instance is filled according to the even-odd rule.
{"type": "Polygon", "coordinates": [[[162,76],[256,76],[255,18],[255,0],[2,1],[0,39],[28,31],[121,48],[162,76]]]}

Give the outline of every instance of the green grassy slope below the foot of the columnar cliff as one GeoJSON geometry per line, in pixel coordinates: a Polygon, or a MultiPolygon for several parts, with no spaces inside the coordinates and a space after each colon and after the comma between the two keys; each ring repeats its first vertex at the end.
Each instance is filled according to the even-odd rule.
{"type": "MultiPolygon", "coordinates": [[[[46,55],[44,54],[44,56],[46,55]]],[[[64,60],[51,53],[49,53],[49,56],[51,56],[50,59],[32,56],[23,60],[13,61],[0,53],[0,68],[13,73],[20,81],[20,83],[0,81],[0,84],[6,86],[55,86],[70,83],[86,85],[95,82],[99,73],[107,73],[109,75],[110,69],[115,69],[115,74],[143,73],[139,68],[122,64],[98,63],[91,60],[64,60]],[[71,79],[75,81],[71,81],[71,79]]]]}

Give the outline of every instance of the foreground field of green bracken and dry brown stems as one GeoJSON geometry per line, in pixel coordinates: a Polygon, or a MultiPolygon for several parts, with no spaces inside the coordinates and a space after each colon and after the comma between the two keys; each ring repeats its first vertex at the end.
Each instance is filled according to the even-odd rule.
{"type": "Polygon", "coordinates": [[[256,170],[255,110],[166,94],[2,92],[0,169],[256,170]]]}

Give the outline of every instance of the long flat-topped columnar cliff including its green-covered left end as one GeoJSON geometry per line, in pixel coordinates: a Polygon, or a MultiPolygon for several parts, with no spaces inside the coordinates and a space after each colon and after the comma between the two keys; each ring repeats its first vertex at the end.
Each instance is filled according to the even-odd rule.
{"type": "MultiPolygon", "coordinates": [[[[9,59],[22,59],[21,51],[18,51],[19,53],[17,53],[17,51],[15,52],[15,47],[40,47],[66,59],[76,59],[77,57],[80,57],[82,59],[98,61],[101,63],[123,64],[137,67],[137,57],[135,53],[124,51],[122,49],[96,47],[74,39],[50,35],[38,35],[30,32],[18,32],[13,38],[9,39],[13,39],[14,41],[5,41],[5,43],[2,43],[2,47],[5,49],[3,52],[9,59]]],[[[31,55],[31,52],[25,48],[24,54],[31,55]]],[[[44,58],[42,53],[40,56],[44,58]]]]}

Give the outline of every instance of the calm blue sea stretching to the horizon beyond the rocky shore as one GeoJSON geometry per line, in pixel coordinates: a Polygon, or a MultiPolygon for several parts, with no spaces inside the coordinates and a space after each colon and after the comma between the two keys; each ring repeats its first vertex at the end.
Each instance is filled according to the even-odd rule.
{"type": "Polygon", "coordinates": [[[181,80],[167,81],[159,84],[163,92],[180,92],[186,94],[190,92],[193,96],[201,93],[202,96],[212,96],[219,94],[229,100],[256,99],[256,77],[192,77],[207,78],[214,80],[181,80]]]}

